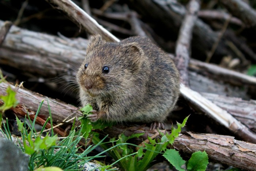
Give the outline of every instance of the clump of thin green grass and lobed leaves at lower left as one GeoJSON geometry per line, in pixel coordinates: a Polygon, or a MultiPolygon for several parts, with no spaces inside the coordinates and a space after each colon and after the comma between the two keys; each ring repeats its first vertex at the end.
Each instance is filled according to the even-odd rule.
{"type": "MultiPolygon", "coordinates": [[[[39,111],[42,107],[44,100],[39,104],[38,110],[35,114],[35,119],[39,114],[39,111]]],[[[49,106],[49,104],[48,104],[49,106]]],[[[50,110],[49,110],[50,113],[50,110]]],[[[28,115],[29,116],[29,115],[28,115]]],[[[105,140],[103,138],[98,144],[90,145],[83,152],[79,152],[79,149],[82,147],[79,145],[79,142],[83,138],[83,134],[81,130],[76,131],[72,129],[69,132],[69,135],[62,140],[59,140],[57,135],[49,135],[46,134],[45,137],[42,136],[42,132],[46,126],[46,123],[49,122],[52,125],[52,118],[49,117],[42,130],[38,134],[34,128],[35,126],[35,119],[32,122],[29,119],[29,123],[21,122],[17,117],[16,121],[18,124],[18,130],[21,132],[22,136],[22,143],[19,141],[18,147],[25,153],[29,154],[29,166],[28,170],[30,171],[41,171],[41,170],[53,170],[53,171],[61,171],[61,170],[82,170],[84,164],[90,162],[95,158],[102,157],[101,155],[106,152],[101,152],[95,156],[88,156],[91,151],[93,151],[99,144],[105,140]],[[28,129],[26,129],[28,127],[28,129]]],[[[25,117],[26,120],[26,117],[25,117]]],[[[7,119],[8,122],[8,119],[7,119]]],[[[0,131],[4,134],[5,138],[12,140],[12,136],[10,133],[10,129],[8,124],[3,124],[4,131],[0,129],[0,131]]],[[[53,129],[51,130],[53,132],[53,129]]],[[[99,166],[100,170],[111,168],[111,166],[99,166]]]]}

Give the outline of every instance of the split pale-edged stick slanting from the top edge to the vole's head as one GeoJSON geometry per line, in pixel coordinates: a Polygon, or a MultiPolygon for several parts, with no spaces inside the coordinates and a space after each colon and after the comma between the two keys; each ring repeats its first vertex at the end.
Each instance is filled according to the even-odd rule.
{"type": "Polygon", "coordinates": [[[105,40],[120,41],[105,28],[97,23],[91,16],[84,12],[71,0],[46,0],[53,8],[67,14],[67,16],[78,24],[79,27],[85,28],[91,34],[101,34],[105,40]]]}

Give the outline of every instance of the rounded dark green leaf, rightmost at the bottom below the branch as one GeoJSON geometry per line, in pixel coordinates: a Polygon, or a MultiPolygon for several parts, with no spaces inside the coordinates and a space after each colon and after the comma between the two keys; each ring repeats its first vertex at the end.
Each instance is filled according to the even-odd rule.
{"type": "Polygon", "coordinates": [[[191,171],[205,171],[208,163],[207,153],[205,151],[197,151],[188,160],[187,169],[191,171]]]}

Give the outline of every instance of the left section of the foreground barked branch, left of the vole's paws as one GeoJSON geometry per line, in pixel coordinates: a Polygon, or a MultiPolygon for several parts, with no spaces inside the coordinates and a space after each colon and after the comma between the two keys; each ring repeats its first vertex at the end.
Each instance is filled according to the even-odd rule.
{"type": "MultiPolygon", "coordinates": [[[[5,95],[6,92],[5,90],[7,87],[10,86],[13,90],[17,90],[15,86],[8,84],[8,83],[0,83],[0,94],[5,95]]],[[[22,87],[20,87],[16,91],[16,99],[20,102],[20,105],[13,109],[17,114],[20,113],[26,115],[26,111],[29,111],[30,116],[33,119],[33,115],[35,115],[35,112],[38,109],[39,104],[44,100],[44,103],[42,104],[42,108],[39,112],[39,117],[43,120],[46,120],[49,117],[49,109],[48,109],[48,103],[49,102],[49,107],[52,113],[52,119],[54,122],[60,123],[64,122],[65,120],[71,119],[75,117],[76,115],[81,115],[80,111],[78,111],[78,108],[61,102],[60,100],[57,99],[51,99],[46,96],[37,94],[35,92],[26,90],[22,87]]],[[[1,101],[1,100],[0,100],[1,101]]],[[[1,104],[3,102],[1,101],[1,104]]],[[[73,120],[71,121],[71,123],[73,120]]],[[[44,124],[40,121],[38,121],[39,124],[44,124]]]]}

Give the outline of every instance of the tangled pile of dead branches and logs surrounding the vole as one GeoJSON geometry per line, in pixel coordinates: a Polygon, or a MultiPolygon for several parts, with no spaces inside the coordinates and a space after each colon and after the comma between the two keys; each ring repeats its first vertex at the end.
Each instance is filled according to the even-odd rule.
{"type": "MultiPolygon", "coordinates": [[[[173,147],[185,156],[205,150],[211,161],[256,170],[256,78],[244,74],[256,63],[256,11],[249,4],[240,0],[220,0],[217,4],[212,0],[203,8],[199,0],[190,0],[187,5],[175,0],[127,0],[125,4],[106,0],[97,8],[87,0],[76,4],[71,0],[45,1],[52,5],[48,8],[60,11],[60,16],[67,16],[86,34],[99,33],[105,40],[116,42],[128,36],[146,36],[169,52],[181,74],[181,97],[170,119],[183,120],[191,114],[187,130],[200,132],[183,132],[173,147]]],[[[11,111],[19,117],[28,112],[33,119],[38,104],[48,99],[55,125],[64,125],[54,131],[65,136],[64,129],[80,115],[77,107],[65,102],[77,100],[75,74],[86,55],[87,39],[16,27],[29,20],[22,15],[26,7],[28,1],[22,4],[14,25],[0,20],[4,75],[9,81],[25,79],[33,85],[23,84],[33,91],[17,90],[20,103],[11,111]],[[48,91],[64,92],[65,102],[53,99],[56,95],[48,91]]],[[[45,11],[30,18],[39,14],[45,11]]],[[[8,85],[0,83],[1,95],[8,85]]],[[[45,102],[36,122],[44,124],[48,116],[45,102]]],[[[147,126],[124,125],[107,128],[101,134],[116,136],[121,132],[144,132],[144,139],[157,134],[147,126]]]]}

